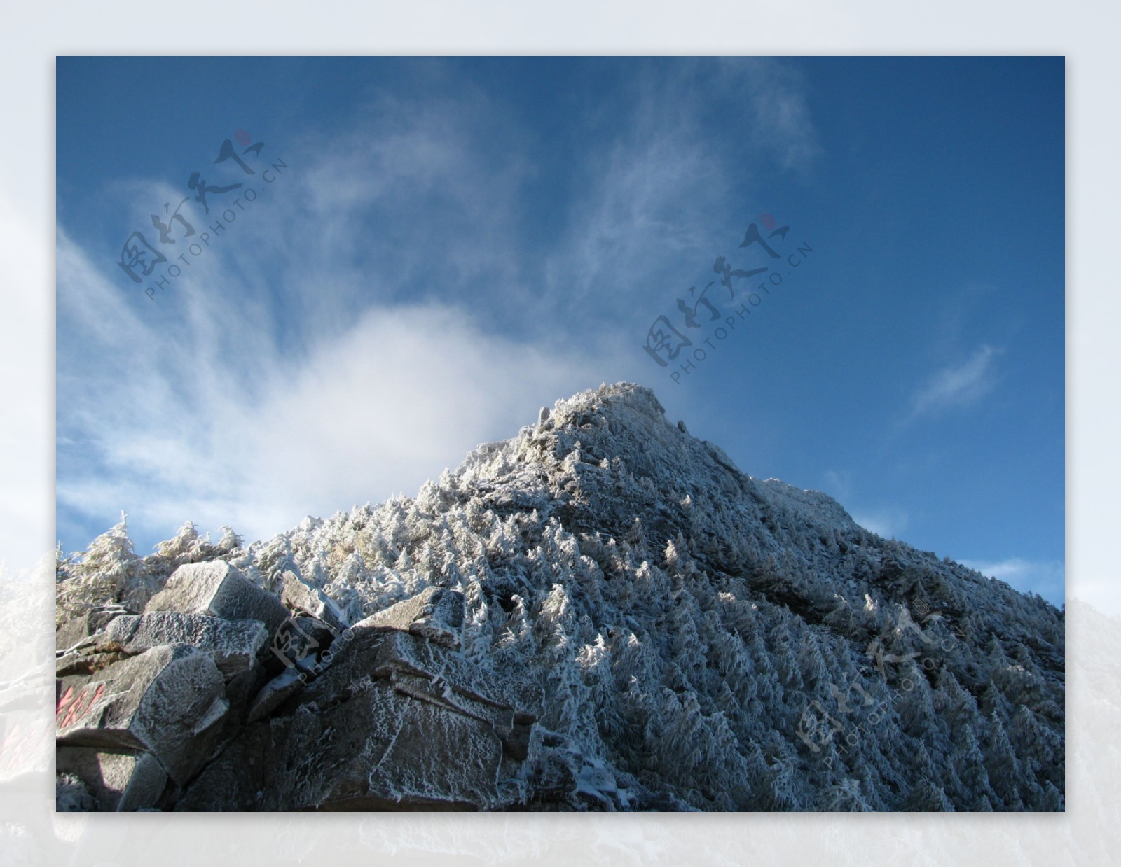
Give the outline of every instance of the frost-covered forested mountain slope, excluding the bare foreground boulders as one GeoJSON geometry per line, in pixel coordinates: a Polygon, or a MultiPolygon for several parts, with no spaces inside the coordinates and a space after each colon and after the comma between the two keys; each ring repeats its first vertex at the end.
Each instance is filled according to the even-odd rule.
{"type": "Polygon", "coordinates": [[[458,653],[536,682],[537,726],[582,756],[569,806],[1063,808],[1063,613],[745,476],[641,386],[558,401],[415,498],[248,548],[187,526],[140,559],[118,528],[61,563],[59,618],[139,609],[212,559],[278,594],[295,573],[350,623],[462,592],[458,653]]]}

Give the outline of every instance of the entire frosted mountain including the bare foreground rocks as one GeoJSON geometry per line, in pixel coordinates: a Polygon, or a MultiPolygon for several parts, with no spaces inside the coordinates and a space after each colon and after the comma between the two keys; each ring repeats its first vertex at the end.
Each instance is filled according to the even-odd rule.
{"type": "Polygon", "coordinates": [[[637,385],[415,498],[57,571],[59,810],[1064,808],[1063,612],[637,385]]]}

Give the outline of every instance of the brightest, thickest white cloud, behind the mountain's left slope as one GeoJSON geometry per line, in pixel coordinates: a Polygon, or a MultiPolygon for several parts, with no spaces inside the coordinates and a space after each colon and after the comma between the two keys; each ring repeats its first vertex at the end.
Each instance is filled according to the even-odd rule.
{"type": "MultiPolygon", "coordinates": [[[[66,428],[96,461],[66,465],[57,497],[87,514],[128,508],[140,536],[191,519],[256,539],[306,514],[414,493],[475,444],[529,422],[543,396],[595,385],[602,373],[602,360],[489,334],[436,302],[370,307],[291,357],[257,334],[247,346],[259,356],[243,367],[243,352],[225,355],[213,326],[169,351],[83,263],[92,268],[63,236],[65,304],[91,336],[122,349],[99,376],[73,366],[61,376],[66,428]]],[[[195,289],[204,291],[182,291],[195,289]]],[[[252,332],[243,318],[228,326],[252,332]]]]}

